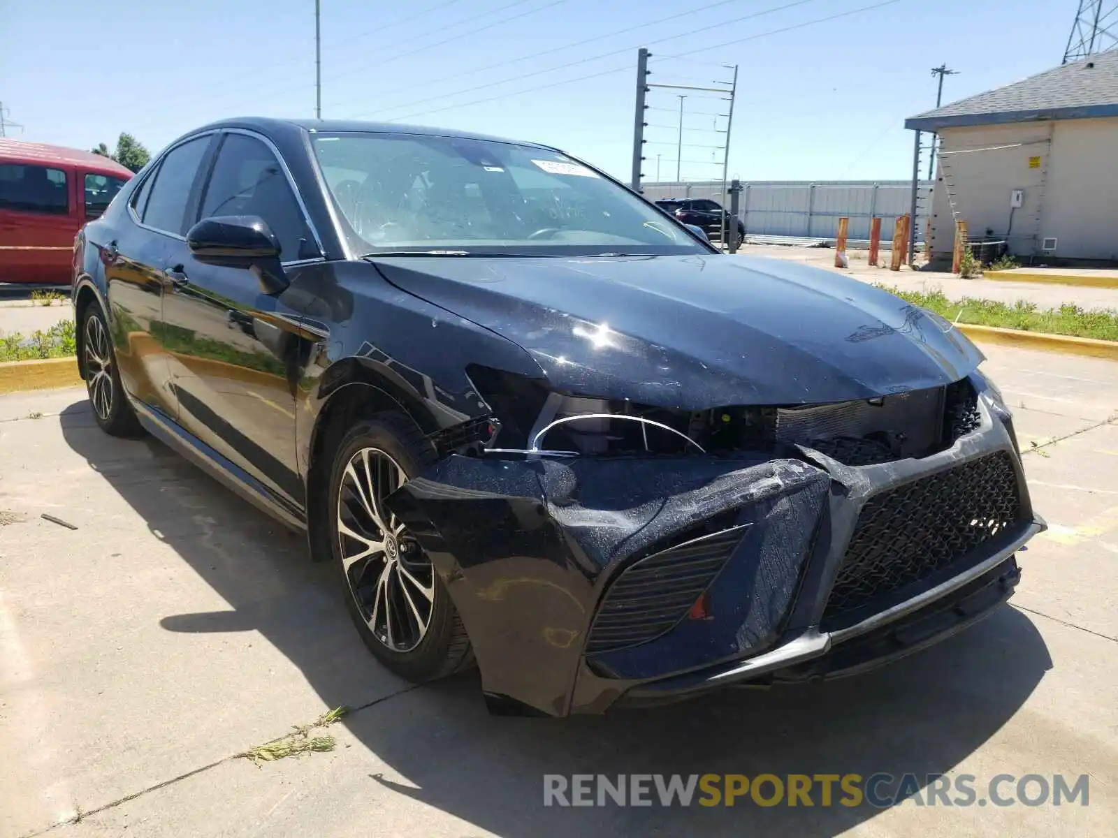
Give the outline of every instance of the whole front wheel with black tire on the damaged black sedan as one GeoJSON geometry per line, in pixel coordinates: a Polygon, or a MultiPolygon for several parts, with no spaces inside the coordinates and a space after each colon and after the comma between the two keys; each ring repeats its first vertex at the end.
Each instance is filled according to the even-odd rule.
{"type": "Polygon", "coordinates": [[[330,472],[326,528],[350,617],[381,664],[417,683],[473,664],[470,638],[438,573],[381,503],[433,460],[415,422],[392,411],[350,428],[330,472]]]}

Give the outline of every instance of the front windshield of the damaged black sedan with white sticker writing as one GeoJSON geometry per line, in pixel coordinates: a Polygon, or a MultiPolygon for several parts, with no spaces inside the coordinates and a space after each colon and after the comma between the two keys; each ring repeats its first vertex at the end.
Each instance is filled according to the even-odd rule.
{"type": "Polygon", "coordinates": [[[311,137],[361,255],[709,253],[624,187],[558,152],[420,134],[311,137]]]}

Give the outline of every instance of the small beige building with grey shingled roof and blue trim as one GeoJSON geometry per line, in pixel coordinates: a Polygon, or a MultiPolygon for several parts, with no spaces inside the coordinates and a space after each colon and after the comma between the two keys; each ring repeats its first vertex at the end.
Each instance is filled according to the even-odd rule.
{"type": "Polygon", "coordinates": [[[906,120],[939,135],[929,241],[1006,239],[1026,260],[1118,260],[1118,51],[906,120]]]}

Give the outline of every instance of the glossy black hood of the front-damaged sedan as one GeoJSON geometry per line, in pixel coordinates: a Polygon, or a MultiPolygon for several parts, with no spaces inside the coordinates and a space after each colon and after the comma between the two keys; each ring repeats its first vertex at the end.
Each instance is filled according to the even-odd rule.
{"type": "Polygon", "coordinates": [[[397,287],[522,346],[568,393],[690,410],[821,403],[946,384],[983,360],[937,315],[779,259],[388,257],[376,264],[397,287]]]}

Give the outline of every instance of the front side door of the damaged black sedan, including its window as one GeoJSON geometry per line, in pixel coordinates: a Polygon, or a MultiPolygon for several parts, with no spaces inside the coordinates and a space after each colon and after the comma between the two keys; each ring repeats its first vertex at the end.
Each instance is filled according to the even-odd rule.
{"type": "MultiPolygon", "coordinates": [[[[257,216],[285,264],[321,258],[285,166],[258,135],[222,134],[199,218],[257,216]]],[[[170,266],[163,304],[179,422],[265,491],[303,507],[295,387],[313,342],[253,270],[195,258],[170,266]]]]}

